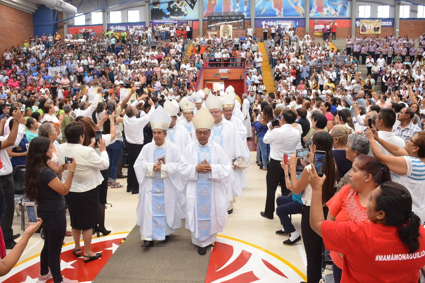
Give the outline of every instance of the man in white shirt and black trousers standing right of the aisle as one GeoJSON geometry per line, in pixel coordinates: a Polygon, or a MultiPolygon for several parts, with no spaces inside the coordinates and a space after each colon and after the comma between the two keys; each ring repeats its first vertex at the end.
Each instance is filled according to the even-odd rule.
{"type": "Polygon", "coordinates": [[[288,157],[291,157],[297,148],[301,148],[301,133],[292,127],[292,123],[296,119],[297,115],[294,112],[285,111],[282,116],[283,125],[280,127],[272,126],[273,129],[269,129],[263,138],[264,143],[270,144],[270,160],[265,177],[267,196],[264,211],[260,213],[265,218],[273,219],[275,212],[275,193],[278,184],[281,184],[282,195],[288,195],[290,193],[285,185],[286,176],[280,162],[283,160],[284,154],[288,154],[288,157]]]}

